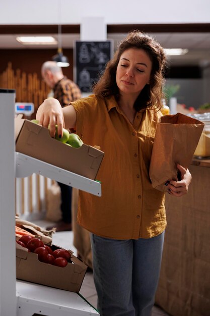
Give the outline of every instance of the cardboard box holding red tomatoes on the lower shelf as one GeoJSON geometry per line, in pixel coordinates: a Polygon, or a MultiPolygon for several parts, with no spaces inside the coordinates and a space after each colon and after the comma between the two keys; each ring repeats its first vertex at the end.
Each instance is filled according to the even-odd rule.
{"type": "MultiPolygon", "coordinates": [[[[59,247],[52,245],[55,250],[59,247]]],[[[60,268],[38,260],[38,255],[16,246],[17,279],[51,286],[61,290],[79,292],[87,266],[72,254],[73,263],[60,268]]]]}

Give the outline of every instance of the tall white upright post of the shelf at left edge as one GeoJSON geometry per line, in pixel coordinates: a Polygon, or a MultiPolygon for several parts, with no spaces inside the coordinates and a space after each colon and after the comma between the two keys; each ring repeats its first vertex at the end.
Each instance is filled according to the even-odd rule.
{"type": "Polygon", "coordinates": [[[16,314],[15,90],[0,89],[0,315],[16,314]]]}

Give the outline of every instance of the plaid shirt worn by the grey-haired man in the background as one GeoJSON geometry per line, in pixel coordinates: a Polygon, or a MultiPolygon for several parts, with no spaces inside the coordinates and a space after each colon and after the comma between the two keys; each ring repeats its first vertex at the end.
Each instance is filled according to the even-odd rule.
{"type": "Polygon", "coordinates": [[[58,99],[62,108],[82,97],[78,85],[65,76],[56,83],[53,91],[54,98],[58,99]]]}

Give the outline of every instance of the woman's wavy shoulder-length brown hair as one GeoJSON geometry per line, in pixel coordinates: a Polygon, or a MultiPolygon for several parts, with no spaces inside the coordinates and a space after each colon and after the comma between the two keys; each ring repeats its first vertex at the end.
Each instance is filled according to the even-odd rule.
{"type": "Polygon", "coordinates": [[[144,49],[152,61],[150,84],[146,84],[134,103],[134,109],[152,108],[161,109],[163,97],[162,86],[165,82],[166,55],[163,47],[150,35],[138,30],[131,31],[122,40],[117,51],[105,68],[99,81],[94,84],[93,92],[96,96],[105,97],[114,95],[119,99],[119,89],[116,83],[116,71],[122,53],[129,48],[144,49]]]}

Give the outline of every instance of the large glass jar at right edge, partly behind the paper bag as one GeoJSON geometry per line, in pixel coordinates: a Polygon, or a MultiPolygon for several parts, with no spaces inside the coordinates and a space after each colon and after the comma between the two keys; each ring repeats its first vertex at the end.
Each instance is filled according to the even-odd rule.
{"type": "Polygon", "coordinates": [[[194,156],[198,159],[210,158],[210,113],[194,114],[196,120],[203,122],[204,128],[200,136],[199,142],[194,152],[194,156]]]}

